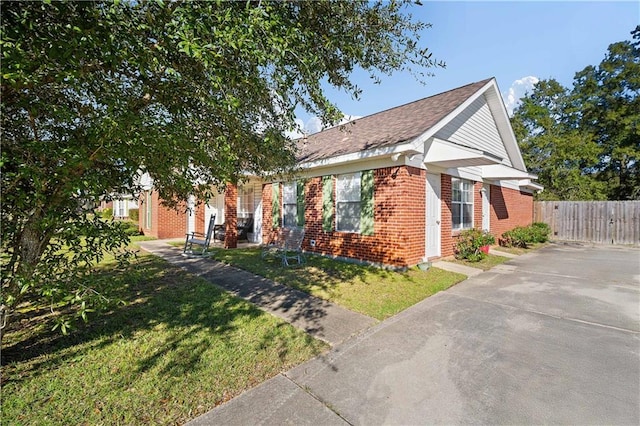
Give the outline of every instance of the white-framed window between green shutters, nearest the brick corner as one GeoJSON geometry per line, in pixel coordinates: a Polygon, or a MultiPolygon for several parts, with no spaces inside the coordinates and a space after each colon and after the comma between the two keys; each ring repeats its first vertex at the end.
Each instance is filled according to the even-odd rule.
{"type": "Polygon", "coordinates": [[[336,185],[336,229],[360,232],[360,172],[338,175],[336,185]]]}

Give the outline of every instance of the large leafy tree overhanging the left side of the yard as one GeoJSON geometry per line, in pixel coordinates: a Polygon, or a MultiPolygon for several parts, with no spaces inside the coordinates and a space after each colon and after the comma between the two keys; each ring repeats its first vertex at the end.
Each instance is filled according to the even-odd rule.
{"type": "Polygon", "coordinates": [[[82,314],[104,300],[82,277],[126,237],[88,213],[140,173],[173,205],[206,199],[243,172],[289,169],[295,108],[340,117],[323,83],[357,96],[356,67],[441,66],[409,3],[4,3],[4,320],[21,300],[82,314]]]}

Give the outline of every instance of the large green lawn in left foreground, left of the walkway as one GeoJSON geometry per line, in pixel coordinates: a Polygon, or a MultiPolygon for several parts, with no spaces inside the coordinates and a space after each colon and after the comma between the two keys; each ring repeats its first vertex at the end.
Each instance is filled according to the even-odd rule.
{"type": "Polygon", "coordinates": [[[125,303],[68,336],[24,307],[2,341],[2,423],[182,424],[327,345],[166,262],[110,274],[125,303]]]}

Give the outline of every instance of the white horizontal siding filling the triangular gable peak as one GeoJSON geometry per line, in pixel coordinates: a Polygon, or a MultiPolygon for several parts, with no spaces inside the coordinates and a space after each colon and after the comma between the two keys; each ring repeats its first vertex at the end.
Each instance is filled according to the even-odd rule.
{"type": "Polygon", "coordinates": [[[503,158],[503,164],[512,166],[484,95],[472,102],[435,137],[489,152],[503,158]]]}

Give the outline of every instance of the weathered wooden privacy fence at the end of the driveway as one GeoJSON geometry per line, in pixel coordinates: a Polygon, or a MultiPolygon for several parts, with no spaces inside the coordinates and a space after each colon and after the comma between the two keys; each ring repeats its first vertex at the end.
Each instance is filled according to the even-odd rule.
{"type": "Polygon", "coordinates": [[[552,239],[640,245],[640,201],[536,201],[533,212],[552,239]]]}

